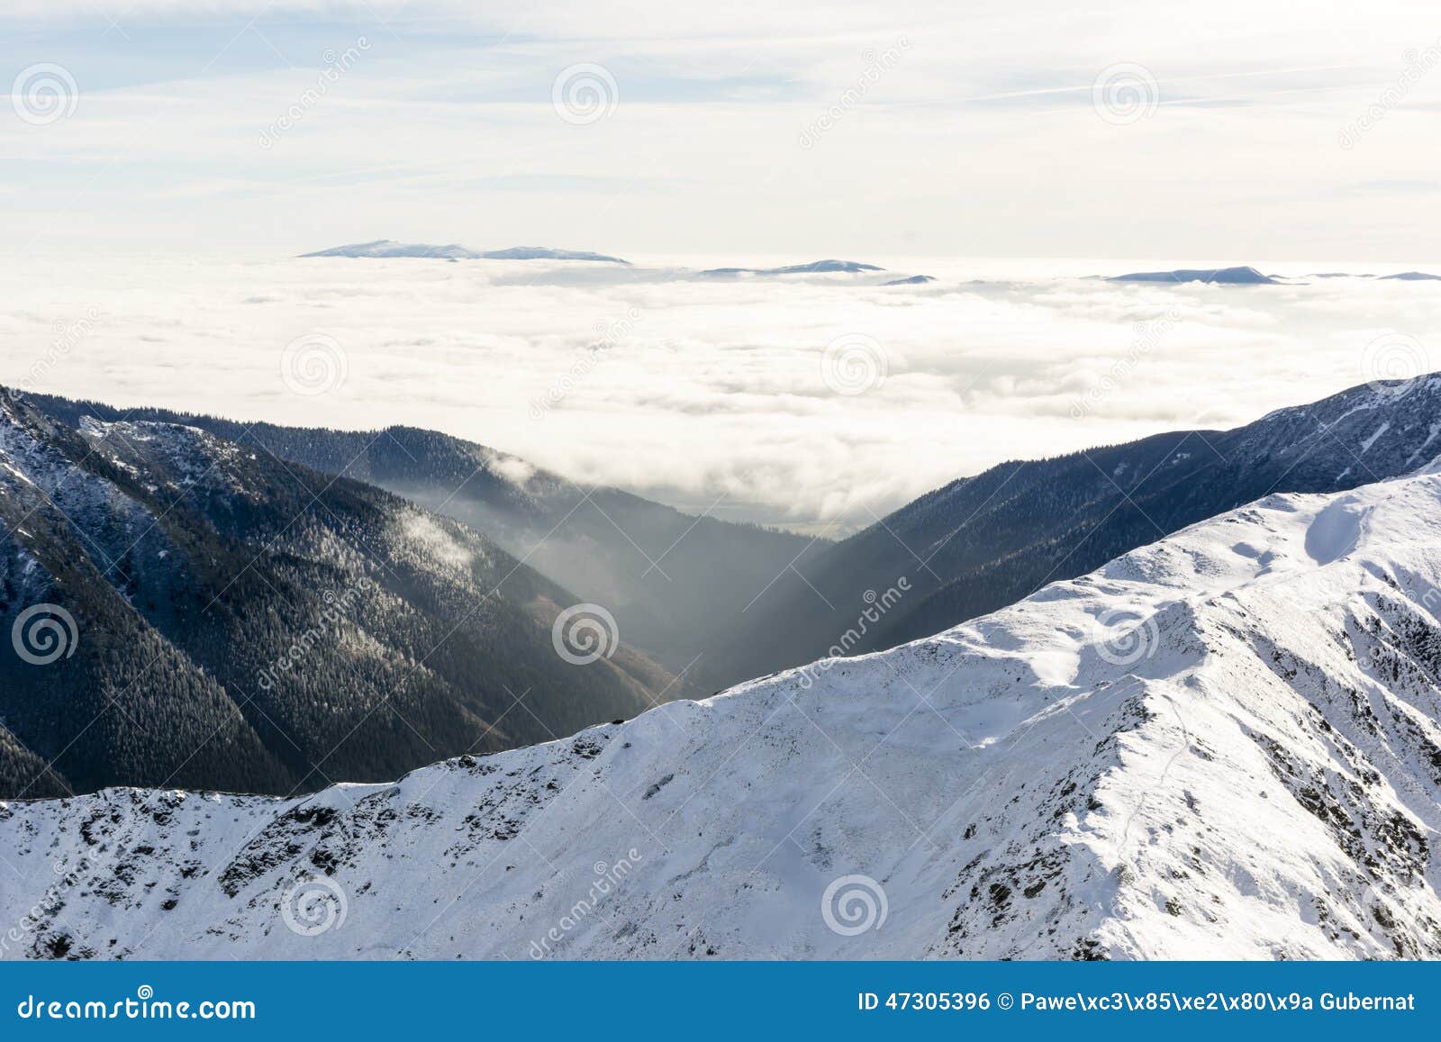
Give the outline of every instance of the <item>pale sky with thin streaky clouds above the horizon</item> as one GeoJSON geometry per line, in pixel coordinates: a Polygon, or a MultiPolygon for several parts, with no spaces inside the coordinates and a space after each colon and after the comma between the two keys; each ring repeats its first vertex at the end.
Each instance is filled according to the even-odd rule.
{"type": "Polygon", "coordinates": [[[1437,255],[1422,3],[9,0],[12,255],[1437,255]],[[52,92],[46,92],[52,86],[52,92]]]}

